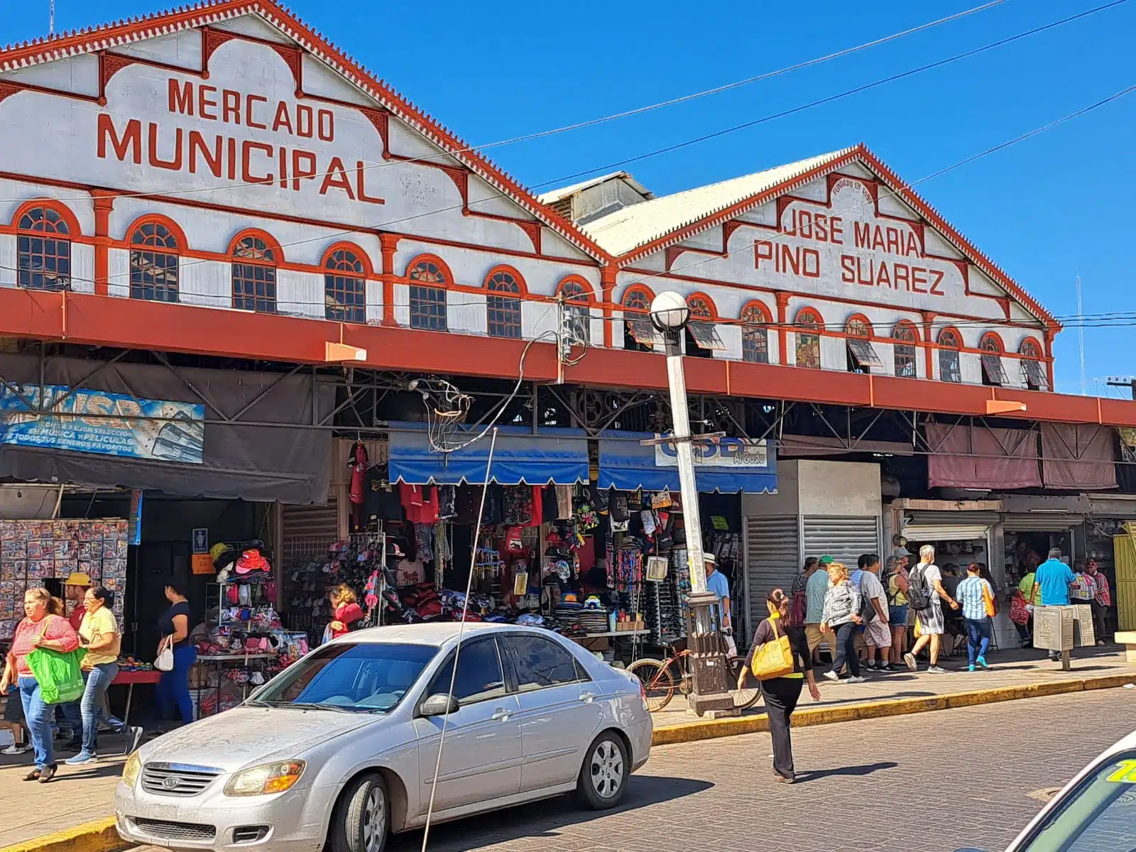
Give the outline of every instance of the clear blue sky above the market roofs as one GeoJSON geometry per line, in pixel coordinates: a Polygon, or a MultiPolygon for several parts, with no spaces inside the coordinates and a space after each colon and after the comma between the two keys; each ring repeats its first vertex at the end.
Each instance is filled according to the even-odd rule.
{"type": "MultiPolygon", "coordinates": [[[[493,149],[550,185],[1102,5],[1009,0],[966,19],[732,92],[493,149]]],[[[979,0],[624,0],[534,3],[294,0],[293,11],[474,144],[753,76],[899,32],[979,0]]],[[[57,30],[162,8],[57,0],[57,30]]],[[[47,31],[48,0],[0,0],[0,40],[47,31]]],[[[1136,0],[1009,47],[628,166],[658,194],[866,142],[908,181],[1136,83],[1136,0]]],[[[1136,93],[921,184],[949,222],[1054,315],[1136,310],[1136,93]]],[[[1085,329],[1087,375],[1136,374],[1125,326],[1085,329]]],[[[1078,329],[1058,336],[1058,390],[1078,392],[1078,329]]],[[[1091,387],[1091,390],[1094,390],[1091,387]]],[[[1097,389],[1101,390],[1101,389],[1097,389]]]]}

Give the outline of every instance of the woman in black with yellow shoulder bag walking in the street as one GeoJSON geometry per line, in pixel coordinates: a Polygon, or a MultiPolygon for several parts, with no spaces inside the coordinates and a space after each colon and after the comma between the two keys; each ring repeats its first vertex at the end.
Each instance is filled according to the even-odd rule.
{"type": "MultiPolygon", "coordinates": [[[[761,693],[765,696],[766,715],[769,717],[769,734],[774,741],[774,780],[793,784],[796,775],[793,769],[793,743],[790,738],[793,711],[801,699],[801,690],[805,683],[813,701],[820,701],[820,690],[812,677],[812,654],[809,653],[809,642],[800,627],[788,627],[792,600],[780,588],[775,588],[766,596],[769,618],[758,625],[753,634],[753,671],[761,680],[761,693]],[[788,638],[791,661],[783,668],[763,671],[760,650],[770,642],[784,645],[788,638]],[[786,670],[792,668],[792,670],[786,670]],[[780,674],[778,674],[780,673],[780,674]],[[774,677],[763,675],[772,674],[774,677]]],[[[784,660],[784,653],[780,654],[784,660]]],[[[744,682],[746,669],[742,669],[738,683],[744,682]]]]}

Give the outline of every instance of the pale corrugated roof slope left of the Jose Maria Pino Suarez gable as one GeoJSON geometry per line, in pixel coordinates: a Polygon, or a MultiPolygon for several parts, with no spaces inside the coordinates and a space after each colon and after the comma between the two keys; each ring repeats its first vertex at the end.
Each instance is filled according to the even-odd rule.
{"type": "MultiPolygon", "coordinates": [[[[777,184],[791,181],[799,174],[824,166],[826,162],[847,154],[851,148],[822,153],[807,160],[797,160],[752,175],[733,177],[728,181],[684,190],[640,204],[632,204],[613,214],[594,219],[580,229],[603,249],[620,256],[677,231],[692,222],[712,216],[719,210],[744,201],[777,184]]],[[[570,187],[569,187],[570,189],[570,187]]],[[[548,203],[545,197],[541,201],[548,203]]]]}

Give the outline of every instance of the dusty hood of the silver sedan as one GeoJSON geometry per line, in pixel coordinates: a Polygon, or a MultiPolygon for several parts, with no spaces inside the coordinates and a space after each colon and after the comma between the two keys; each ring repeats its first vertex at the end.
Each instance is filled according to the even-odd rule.
{"type": "Polygon", "coordinates": [[[302,757],[316,745],[385,718],[335,710],[237,707],[159,737],[140,757],[145,763],[187,763],[231,772],[302,757]]]}

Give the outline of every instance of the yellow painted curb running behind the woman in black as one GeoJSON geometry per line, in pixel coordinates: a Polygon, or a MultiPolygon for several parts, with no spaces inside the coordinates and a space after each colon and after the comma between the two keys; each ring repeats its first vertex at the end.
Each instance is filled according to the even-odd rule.
{"type": "MultiPolygon", "coordinates": [[[[797,710],[793,713],[793,727],[804,728],[813,725],[855,721],[858,719],[882,719],[887,716],[925,713],[932,710],[950,710],[959,707],[976,707],[978,704],[993,704],[1000,701],[1017,701],[1019,699],[1038,699],[1046,695],[1063,695],[1086,690],[1109,690],[1127,684],[1136,684],[1136,673],[1103,675],[1070,680],[1047,680],[1017,686],[999,686],[992,690],[954,692],[926,699],[891,699],[866,701],[860,704],[821,707],[797,710]]],[[[654,737],[651,740],[651,744],[671,745],[674,743],[693,743],[699,740],[713,740],[722,736],[737,736],[738,734],[757,734],[766,730],[769,730],[769,722],[765,713],[727,719],[705,719],[679,725],[662,725],[654,729],[654,737]]],[[[0,850],[0,852],[3,852],[3,850],[0,850]]]]}

